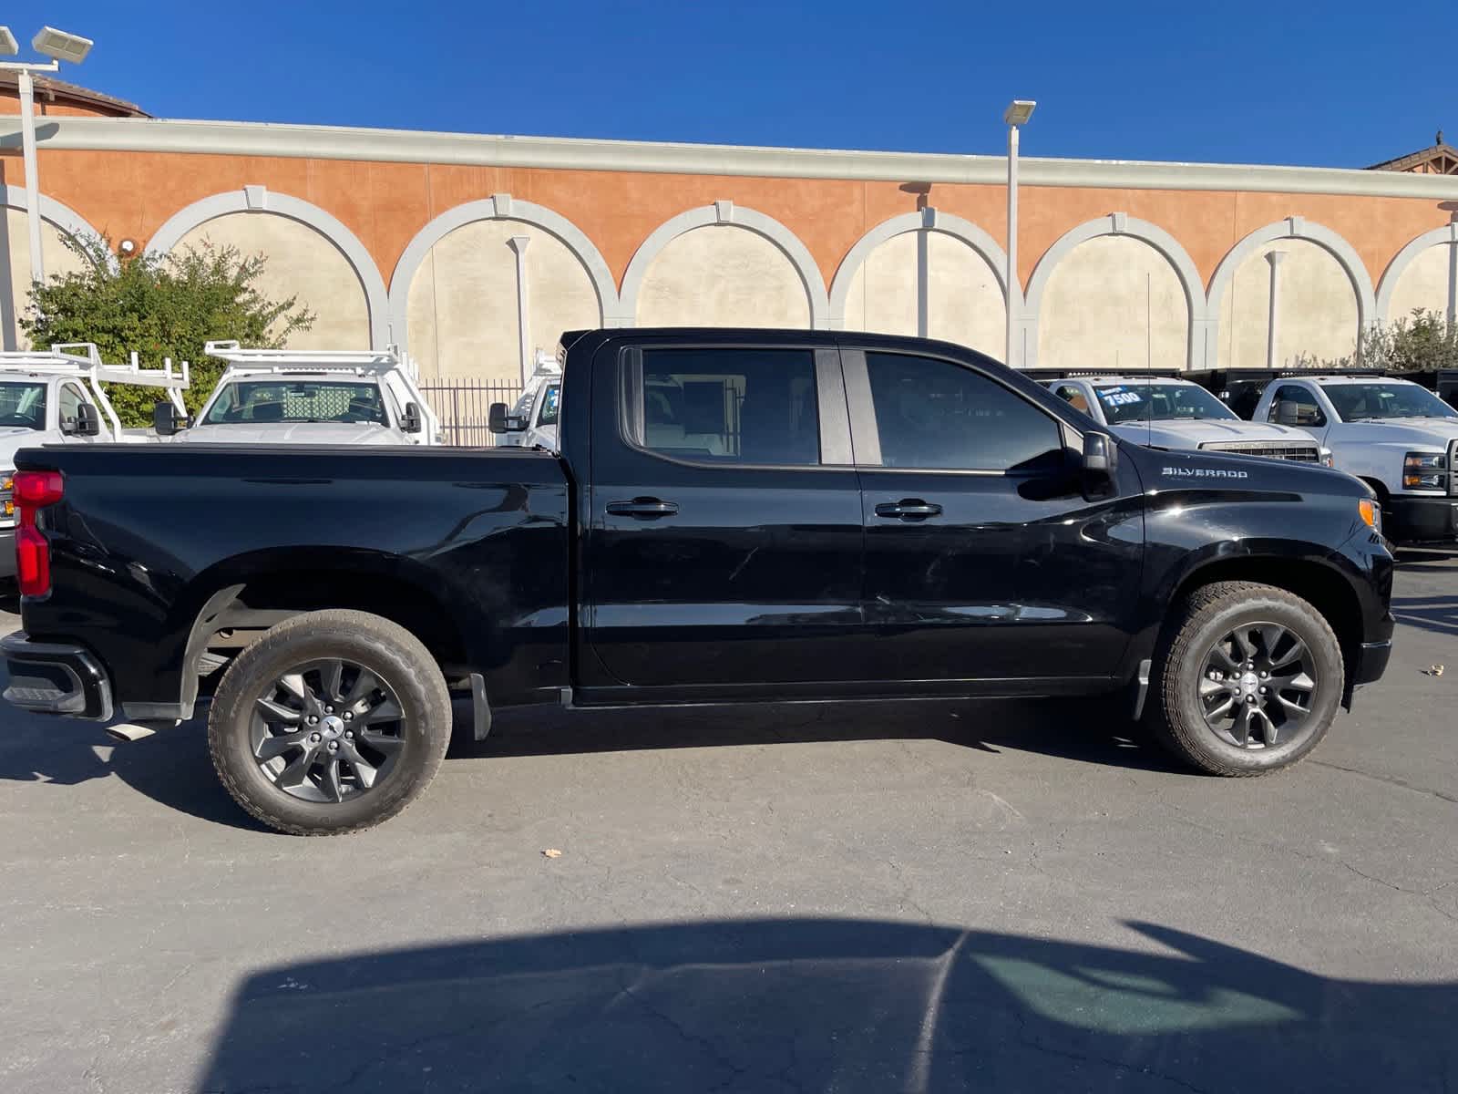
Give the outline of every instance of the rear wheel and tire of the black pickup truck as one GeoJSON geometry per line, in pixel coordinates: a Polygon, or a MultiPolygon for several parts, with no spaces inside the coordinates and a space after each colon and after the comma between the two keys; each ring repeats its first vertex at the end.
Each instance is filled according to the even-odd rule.
{"type": "Polygon", "coordinates": [[[451,697],[404,627],[363,611],[311,611],[227,667],[207,741],[217,777],[249,814],[295,836],[338,836],[420,796],[451,742],[451,697]]]}

